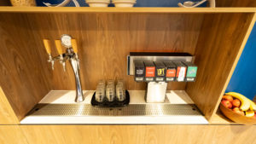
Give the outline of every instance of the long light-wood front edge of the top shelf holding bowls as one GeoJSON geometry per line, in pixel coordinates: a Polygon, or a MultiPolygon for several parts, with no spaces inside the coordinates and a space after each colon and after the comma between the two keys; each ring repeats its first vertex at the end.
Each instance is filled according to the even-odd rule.
{"type": "Polygon", "coordinates": [[[253,13],[255,8],[89,8],[89,7],[0,7],[12,13],[253,13]]]}

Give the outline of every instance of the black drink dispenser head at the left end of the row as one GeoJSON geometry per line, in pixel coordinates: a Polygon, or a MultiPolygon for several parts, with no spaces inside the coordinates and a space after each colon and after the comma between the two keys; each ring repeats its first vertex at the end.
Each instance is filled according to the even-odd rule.
{"type": "Polygon", "coordinates": [[[145,66],[142,60],[134,61],[134,80],[136,82],[143,82],[145,76],[145,66]]]}

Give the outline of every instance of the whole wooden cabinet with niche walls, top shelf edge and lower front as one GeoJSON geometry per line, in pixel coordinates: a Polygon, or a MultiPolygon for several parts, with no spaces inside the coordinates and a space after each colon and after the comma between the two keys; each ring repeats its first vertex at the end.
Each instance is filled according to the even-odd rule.
{"type": "MultiPolygon", "coordinates": [[[[78,40],[83,89],[102,78],[124,78],[127,89],[145,89],[126,75],[131,51],[188,52],[199,66],[185,90],[211,122],[256,19],[255,8],[0,8],[0,124],[19,124],[50,89],[75,89],[71,66],[55,71],[42,39],[70,34],[78,40]],[[93,71],[93,72],[91,72],[93,71]],[[4,92],[4,93],[3,93],[4,92]]],[[[218,120],[220,119],[220,120],[218,120]]],[[[253,143],[244,125],[0,125],[2,143],[253,143]],[[8,139],[8,140],[6,140],[8,139]],[[18,141],[17,141],[18,140],[18,141]]]]}

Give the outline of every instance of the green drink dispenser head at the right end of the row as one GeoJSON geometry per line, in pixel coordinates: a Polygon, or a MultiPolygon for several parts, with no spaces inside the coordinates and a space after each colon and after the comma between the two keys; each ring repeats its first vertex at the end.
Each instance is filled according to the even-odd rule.
{"type": "Polygon", "coordinates": [[[186,82],[195,82],[197,66],[192,62],[183,61],[183,64],[187,66],[186,82]]]}

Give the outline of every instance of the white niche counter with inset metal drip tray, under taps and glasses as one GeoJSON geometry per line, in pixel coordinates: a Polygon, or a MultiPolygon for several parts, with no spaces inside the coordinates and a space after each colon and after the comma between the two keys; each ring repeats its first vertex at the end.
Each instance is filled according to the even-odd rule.
{"type": "Polygon", "coordinates": [[[129,92],[129,106],[99,108],[90,105],[92,90],[80,104],[75,91],[52,90],[20,124],[208,124],[184,90],[168,91],[164,103],[146,103],[144,90],[129,92]]]}

